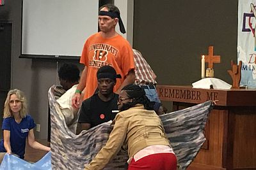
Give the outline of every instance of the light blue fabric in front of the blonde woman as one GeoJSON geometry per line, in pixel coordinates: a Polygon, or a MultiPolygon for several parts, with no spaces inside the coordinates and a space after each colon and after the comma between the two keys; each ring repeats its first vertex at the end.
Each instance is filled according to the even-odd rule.
{"type": "Polygon", "coordinates": [[[0,170],[51,170],[51,152],[48,152],[38,162],[31,164],[14,155],[5,154],[0,170]]]}

